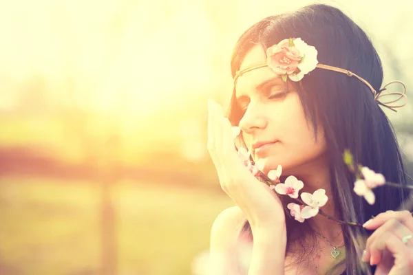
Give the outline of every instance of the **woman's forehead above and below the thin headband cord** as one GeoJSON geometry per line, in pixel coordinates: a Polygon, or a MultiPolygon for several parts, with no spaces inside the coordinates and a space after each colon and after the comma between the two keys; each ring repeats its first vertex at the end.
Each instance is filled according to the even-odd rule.
{"type": "MultiPolygon", "coordinates": [[[[264,64],[266,64],[266,53],[264,48],[262,45],[255,45],[248,54],[246,54],[241,63],[240,70],[264,64]]],[[[235,87],[236,96],[239,97],[242,94],[245,94],[246,91],[251,91],[260,83],[275,77],[279,77],[281,80],[281,77],[277,76],[270,67],[262,67],[246,72],[237,79],[237,85],[235,87]]]]}

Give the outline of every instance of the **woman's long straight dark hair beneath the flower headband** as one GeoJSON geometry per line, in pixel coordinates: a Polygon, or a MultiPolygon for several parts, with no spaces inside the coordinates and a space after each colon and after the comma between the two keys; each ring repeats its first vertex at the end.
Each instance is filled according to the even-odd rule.
{"type": "MultiPolygon", "coordinates": [[[[252,47],[262,45],[266,50],[290,37],[301,37],[308,45],[315,46],[319,63],[348,69],[367,80],[377,91],[381,88],[381,61],[366,33],[339,9],[323,4],[308,5],[290,14],[267,17],[251,26],[235,45],[231,58],[233,76],[252,47]]],[[[354,155],[354,162],[382,173],[387,181],[406,184],[394,129],[375,102],[370,89],[356,78],[324,69],[315,69],[304,76],[300,83],[293,85],[315,131],[316,119],[324,127],[331,164],[330,182],[335,208],[341,214],[339,218],[363,223],[380,212],[399,210],[409,192],[388,186],[376,188],[376,203],[370,206],[362,197],[354,194],[354,176],[343,163],[342,154],[348,148],[354,155]]],[[[231,100],[229,118],[234,125],[242,118],[235,95],[231,100]]],[[[291,230],[299,227],[287,212],[286,223],[290,243],[291,230]]],[[[248,229],[246,222],[244,232],[248,229]]],[[[343,226],[342,229],[346,244],[346,259],[343,260],[346,264],[345,274],[371,274],[373,270],[366,269],[366,265],[360,262],[363,240],[369,232],[350,226],[343,226]]],[[[301,226],[301,230],[311,232],[308,225],[301,226]]]]}

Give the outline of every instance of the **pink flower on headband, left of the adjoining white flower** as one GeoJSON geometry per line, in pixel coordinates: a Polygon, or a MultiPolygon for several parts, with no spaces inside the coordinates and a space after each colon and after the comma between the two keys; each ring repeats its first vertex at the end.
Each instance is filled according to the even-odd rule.
{"type": "Polygon", "coordinates": [[[290,47],[289,39],[284,39],[266,50],[268,67],[275,74],[293,74],[301,61],[301,54],[295,47],[290,47]]]}

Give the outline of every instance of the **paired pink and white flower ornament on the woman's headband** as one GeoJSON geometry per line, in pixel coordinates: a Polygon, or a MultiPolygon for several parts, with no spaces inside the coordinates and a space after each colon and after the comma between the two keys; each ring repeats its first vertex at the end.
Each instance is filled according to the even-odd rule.
{"type": "Polygon", "coordinates": [[[317,67],[317,50],[300,38],[284,39],[266,50],[267,65],[275,74],[295,82],[317,67]]]}

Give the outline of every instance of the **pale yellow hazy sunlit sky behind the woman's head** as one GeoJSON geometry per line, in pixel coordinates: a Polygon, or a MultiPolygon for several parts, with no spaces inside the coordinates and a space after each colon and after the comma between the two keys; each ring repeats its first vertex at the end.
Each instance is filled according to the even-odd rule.
{"type": "MultiPolygon", "coordinates": [[[[231,91],[237,37],[263,17],[308,3],[314,1],[0,0],[0,108],[13,108],[21,86],[41,79],[41,96],[50,102],[118,115],[145,131],[142,144],[171,133],[199,136],[206,99],[225,102],[231,91]]],[[[372,36],[385,69],[386,44],[405,78],[413,74],[412,4],[323,3],[341,8],[372,36]]],[[[403,80],[412,87],[410,78],[403,80]]],[[[397,118],[411,118],[406,112],[397,118]]],[[[204,147],[190,143],[185,150],[204,147]]]]}

